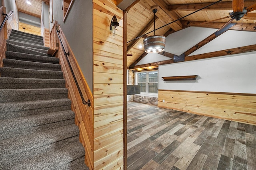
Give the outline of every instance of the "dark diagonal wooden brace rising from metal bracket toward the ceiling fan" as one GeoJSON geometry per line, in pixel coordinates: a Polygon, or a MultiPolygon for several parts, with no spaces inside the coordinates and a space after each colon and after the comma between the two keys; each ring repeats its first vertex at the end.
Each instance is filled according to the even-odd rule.
{"type": "MultiPolygon", "coordinates": [[[[232,23],[236,24],[236,23],[232,23]]],[[[228,25],[227,25],[228,26],[228,25]]],[[[201,42],[197,43],[196,45],[194,45],[192,48],[188,49],[184,54],[185,57],[190,55],[191,53],[193,53],[194,51],[198,50],[199,48],[201,48],[202,46],[206,45],[207,43],[209,43],[210,41],[214,40],[216,37],[220,36],[222,33],[228,31],[230,27],[225,27],[224,29],[222,29],[221,31],[217,30],[216,32],[214,32],[212,35],[206,37],[204,40],[202,40],[201,42]],[[220,32],[220,33],[219,33],[220,32]]]]}

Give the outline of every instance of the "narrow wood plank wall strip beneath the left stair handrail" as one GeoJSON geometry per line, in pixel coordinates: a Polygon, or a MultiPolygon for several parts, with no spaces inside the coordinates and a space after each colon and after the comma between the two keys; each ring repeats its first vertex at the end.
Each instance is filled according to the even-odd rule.
{"type": "MultiPolygon", "coordinates": [[[[0,7],[0,14],[6,14],[6,9],[4,6],[0,7]]],[[[0,15],[0,24],[4,21],[5,16],[0,15]]],[[[6,52],[6,24],[0,31],[0,67],[3,66],[3,59],[5,59],[6,52]]]]}

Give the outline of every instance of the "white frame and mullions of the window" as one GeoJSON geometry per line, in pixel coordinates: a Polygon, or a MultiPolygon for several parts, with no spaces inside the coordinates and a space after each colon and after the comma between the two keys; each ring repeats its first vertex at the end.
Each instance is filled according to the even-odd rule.
{"type": "Polygon", "coordinates": [[[136,85],[139,85],[138,83],[138,74],[139,73],[146,73],[146,92],[140,92],[140,94],[138,94],[138,95],[149,95],[149,96],[158,96],[158,85],[159,85],[159,74],[158,74],[158,70],[149,70],[149,71],[140,71],[140,72],[135,72],[135,84],[136,85]],[[150,72],[157,72],[157,82],[149,82],[149,73],[150,72]],[[149,90],[149,83],[157,83],[157,93],[150,93],[150,92],[148,92],[148,90],[149,90]]]}

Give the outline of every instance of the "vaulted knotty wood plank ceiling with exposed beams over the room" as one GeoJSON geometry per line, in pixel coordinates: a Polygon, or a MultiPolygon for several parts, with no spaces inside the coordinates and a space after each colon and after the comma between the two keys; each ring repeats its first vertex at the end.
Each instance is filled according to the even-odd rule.
{"type": "MultiPolygon", "coordinates": [[[[156,12],[155,28],[158,29],[163,25],[166,25],[156,30],[156,35],[168,36],[170,33],[174,33],[175,31],[179,31],[189,26],[208,27],[217,29],[222,27],[225,23],[230,21],[231,18],[228,17],[222,20],[216,19],[230,16],[230,13],[233,12],[232,0],[222,0],[220,2],[217,1],[218,0],[136,0],[132,5],[126,8],[126,10],[128,11],[127,66],[130,68],[134,68],[135,64],[138,63],[138,61],[140,61],[147,54],[144,52],[143,47],[139,47],[140,45],[143,45],[143,39],[145,37],[153,35],[153,32],[148,33],[154,30],[154,13],[152,12],[153,9],[158,10],[156,12]],[[217,3],[207,8],[204,8],[212,4],[213,2],[217,3]],[[201,8],[204,9],[196,12],[196,10],[199,10],[201,8]],[[195,13],[191,14],[193,12],[195,13]],[[179,18],[182,19],[178,20],[179,18]],[[204,23],[206,21],[212,20],[216,21],[204,23]],[[175,22],[171,23],[172,21],[175,22]],[[171,24],[167,25],[168,23],[171,24]],[[136,37],[140,36],[142,37],[135,39],[136,37]]],[[[238,0],[236,0],[236,2],[237,1],[238,0]]],[[[253,11],[250,12],[250,14],[253,14],[253,17],[249,20],[245,19],[246,16],[244,16],[244,18],[242,18],[239,21],[232,21],[232,23],[234,23],[235,25],[233,25],[229,29],[256,32],[256,0],[244,0],[244,7],[246,8],[249,6],[254,7],[254,9],[252,9],[253,11]]],[[[228,29],[228,27],[225,27],[225,29],[228,29]]],[[[225,29],[222,29],[222,31],[226,31],[225,29]]],[[[201,43],[196,44],[195,47],[186,51],[184,53],[185,56],[183,57],[186,57],[196,49],[202,47],[202,45],[210,42],[215,37],[216,35],[212,35],[211,37],[206,38],[201,43]]],[[[255,49],[255,47],[250,47],[250,49],[247,51],[252,51],[251,48],[255,49]]],[[[167,52],[161,52],[160,54],[165,55],[166,57],[170,57],[170,60],[168,62],[173,63],[173,61],[171,61],[172,59],[174,59],[173,54],[167,52]]]]}

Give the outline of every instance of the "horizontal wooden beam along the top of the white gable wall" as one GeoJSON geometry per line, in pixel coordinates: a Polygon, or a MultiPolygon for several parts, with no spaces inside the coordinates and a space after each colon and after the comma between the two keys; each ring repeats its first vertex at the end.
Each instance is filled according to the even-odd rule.
{"type": "MultiPolygon", "coordinates": [[[[206,24],[201,24],[203,22],[204,21],[182,21],[182,25],[184,28],[195,26],[195,27],[220,29],[220,27],[222,27],[226,23],[226,22],[210,22],[206,24]]],[[[232,26],[230,30],[256,32],[256,24],[255,23],[236,23],[236,25],[232,26]]]]}

